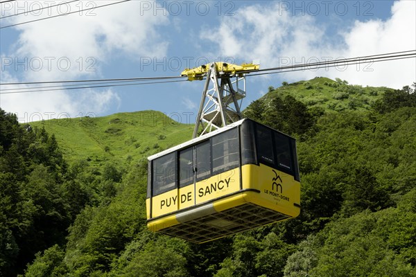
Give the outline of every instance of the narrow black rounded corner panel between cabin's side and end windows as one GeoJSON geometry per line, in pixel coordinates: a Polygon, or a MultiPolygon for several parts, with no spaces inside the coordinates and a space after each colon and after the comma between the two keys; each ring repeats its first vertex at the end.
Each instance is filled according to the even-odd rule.
{"type": "Polygon", "coordinates": [[[254,123],[245,120],[241,125],[241,164],[257,164],[254,123]]]}

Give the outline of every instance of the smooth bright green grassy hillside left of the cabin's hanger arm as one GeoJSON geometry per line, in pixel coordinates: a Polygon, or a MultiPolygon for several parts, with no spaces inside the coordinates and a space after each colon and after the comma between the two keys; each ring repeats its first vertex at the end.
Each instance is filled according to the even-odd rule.
{"type": "Polygon", "coordinates": [[[159,111],[53,119],[31,125],[55,134],[69,162],[93,164],[141,159],[191,139],[193,132],[193,125],[177,123],[159,111]]]}

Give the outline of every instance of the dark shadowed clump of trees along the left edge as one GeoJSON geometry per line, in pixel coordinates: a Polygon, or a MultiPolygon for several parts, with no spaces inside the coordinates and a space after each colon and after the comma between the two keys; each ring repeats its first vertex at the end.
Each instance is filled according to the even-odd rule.
{"type": "Polygon", "coordinates": [[[21,273],[35,253],[65,243],[66,162],[55,136],[0,109],[0,272],[21,273]]]}

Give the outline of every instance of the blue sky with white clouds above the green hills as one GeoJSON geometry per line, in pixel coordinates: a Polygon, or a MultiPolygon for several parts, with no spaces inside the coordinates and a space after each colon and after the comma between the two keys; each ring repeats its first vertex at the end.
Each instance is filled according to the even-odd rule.
{"type": "MultiPolygon", "coordinates": [[[[416,1],[12,1],[1,4],[0,82],[180,75],[188,66],[260,60],[261,68],[416,49],[416,1]]],[[[415,59],[248,78],[247,106],[268,87],[315,76],[401,88],[415,59]]],[[[186,123],[202,81],[0,95],[21,122],[153,109],[186,123]],[[178,117],[180,115],[181,117],[178,117]]],[[[4,87],[3,87],[4,88],[4,87]]],[[[194,116],[191,116],[193,118],[194,116]]]]}

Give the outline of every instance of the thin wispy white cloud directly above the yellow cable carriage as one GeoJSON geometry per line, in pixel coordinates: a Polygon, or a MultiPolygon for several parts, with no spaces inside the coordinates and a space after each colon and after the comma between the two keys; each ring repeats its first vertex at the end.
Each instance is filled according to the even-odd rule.
{"type": "Polygon", "coordinates": [[[218,28],[203,30],[200,37],[218,44],[218,56],[261,60],[262,67],[269,67],[280,63],[281,53],[298,57],[305,46],[320,41],[323,32],[312,22],[312,17],[279,11],[279,3],[255,5],[237,10],[234,17],[225,17],[218,28]]]}

